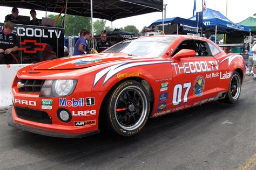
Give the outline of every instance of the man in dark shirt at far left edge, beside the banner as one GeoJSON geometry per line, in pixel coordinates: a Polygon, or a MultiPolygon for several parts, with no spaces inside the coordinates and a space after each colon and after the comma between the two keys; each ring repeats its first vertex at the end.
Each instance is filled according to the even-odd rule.
{"type": "Polygon", "coordinates": [[[10,53],[18,50],[19,42],[14,30],[14,24],[12,22],[6,22],[3,26],[3,30],[0,31],[0,64],[10,64],[14,58],[10,53]]]}

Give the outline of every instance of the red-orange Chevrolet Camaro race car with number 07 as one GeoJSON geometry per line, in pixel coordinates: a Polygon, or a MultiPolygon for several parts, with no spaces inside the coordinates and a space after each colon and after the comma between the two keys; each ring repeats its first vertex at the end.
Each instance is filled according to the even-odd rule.
{"type": "Polygon", "coordinates": [[[20,69],[9,125],[53,137],[100,130],[132,136],[148,118],[215,100],[237,102],[245,68],[241,55],[205,38],[131,38],[103,53],[20,69]]]}

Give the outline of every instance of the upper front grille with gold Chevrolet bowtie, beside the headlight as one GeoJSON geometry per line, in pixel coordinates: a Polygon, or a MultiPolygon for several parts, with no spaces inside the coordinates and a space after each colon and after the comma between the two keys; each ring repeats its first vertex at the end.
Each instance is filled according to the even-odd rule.
{"type": "Polygon", "coordinates": [[[41,88],[44,84],[45,80],[31,80],[31,79],[19,79],[19,92],[25,93],[40,93],[41,88]]]}

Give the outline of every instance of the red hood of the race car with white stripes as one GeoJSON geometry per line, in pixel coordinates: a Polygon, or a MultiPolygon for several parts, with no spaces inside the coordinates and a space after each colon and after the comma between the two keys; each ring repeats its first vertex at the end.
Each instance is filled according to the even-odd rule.
{"type": "Polygon", "coordinates": [[[65,58],[59,58],[55,60],[49,60],[44,62],[39,62],[30,65],[31,70],[43,70],[43,69],[79,69],[86,68],[90,66],[100,65],[102,63],[108,63],[113,61],[122,60],[137,60],[146,59],[140,56],[131,56],[126,53],[99,53],[99,54],[89,54],[89,55],[77,55],[69,56],[65,58]]]}

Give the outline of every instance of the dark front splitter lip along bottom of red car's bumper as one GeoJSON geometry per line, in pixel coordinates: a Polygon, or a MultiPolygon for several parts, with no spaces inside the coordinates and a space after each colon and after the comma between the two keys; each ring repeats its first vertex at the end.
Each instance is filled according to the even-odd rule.
{"type": "Polygon", "coordinates": [[[91,136],[92,134],[96,134],[100,132],[99,129],[93,130],[93,131],[87,131],[84,133],[76,133],[76,134],[50,131],[50,130],[45,130],[45,129],[25,125],[25,124],[16,123],[14,122],[14,119],[12,117],[10,118],[8,125],[24,131],[42,134],[44,136],[57,137],[57,138],[82,138],[82,137],[91,136]]]}

